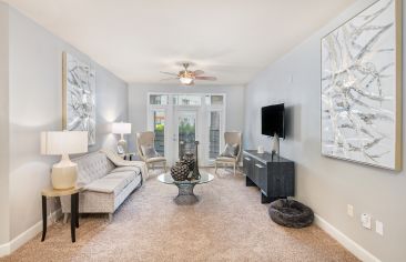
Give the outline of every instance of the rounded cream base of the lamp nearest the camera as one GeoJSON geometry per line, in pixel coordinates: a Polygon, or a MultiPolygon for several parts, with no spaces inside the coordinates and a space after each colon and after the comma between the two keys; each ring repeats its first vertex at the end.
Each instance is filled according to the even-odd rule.
{"type": "Polygon", "coordinates": [[[71,161],[62,160],[52,167],[52,187],[53,189],[72,189],[77,185],[78,164],[71,161]]]}

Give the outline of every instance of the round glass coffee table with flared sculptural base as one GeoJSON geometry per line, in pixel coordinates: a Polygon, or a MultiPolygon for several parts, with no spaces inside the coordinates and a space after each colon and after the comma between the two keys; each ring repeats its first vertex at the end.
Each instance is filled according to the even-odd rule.
{"type": "Polygon", "coordinates": [[[174,184],[179,189],[177,196],[174,199],[176,204],[194,204],[199,201],[199,198],[193,193],[193,189],[196,184],[209,183],[214,179],[214,175],[204,171],[200,172],[200,180],[192,181],[174,181],[171,172],[160,174],[158,180],[165,184],[174,184]]]}

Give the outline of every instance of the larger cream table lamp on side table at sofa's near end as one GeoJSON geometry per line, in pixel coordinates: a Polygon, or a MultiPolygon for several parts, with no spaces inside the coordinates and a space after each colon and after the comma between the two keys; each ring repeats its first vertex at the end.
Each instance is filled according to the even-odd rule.
{"type": "Polygon", "coordinates": [[[78,164],[69,159],[69,154],[85,152],[88,152],[87,131],[41,132],[41,154],[62,155],[61,161],[52,167],[52,187],[57,190],[77,185],[78,164]]]}

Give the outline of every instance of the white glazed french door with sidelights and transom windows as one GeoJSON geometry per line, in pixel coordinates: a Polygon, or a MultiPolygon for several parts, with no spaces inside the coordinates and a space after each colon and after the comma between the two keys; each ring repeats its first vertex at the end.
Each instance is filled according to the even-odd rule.
{"type": "Polygon", "coordinates": [[[148,99],[148,129],[155,132],[155,149],[169,164],[194,153],[194,141],[200,141],[199,162],[211,165],[224,147],[225,95],[150,93],[148,99]]]}

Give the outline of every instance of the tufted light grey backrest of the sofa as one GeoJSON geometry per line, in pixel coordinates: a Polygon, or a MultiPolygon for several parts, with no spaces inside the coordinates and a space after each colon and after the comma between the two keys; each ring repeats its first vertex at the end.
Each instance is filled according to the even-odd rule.
{"type": "Polygon", "coordinates": [[[115,165],[102,152],[94,152],[73,159],[78,163],[78,184],[85,185],[105,177],[115,165]]]}

